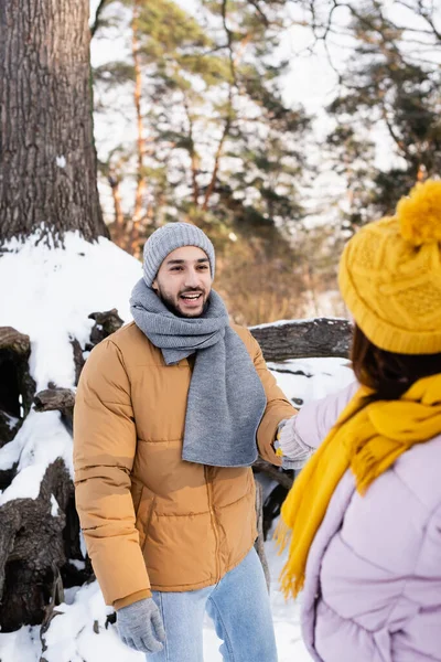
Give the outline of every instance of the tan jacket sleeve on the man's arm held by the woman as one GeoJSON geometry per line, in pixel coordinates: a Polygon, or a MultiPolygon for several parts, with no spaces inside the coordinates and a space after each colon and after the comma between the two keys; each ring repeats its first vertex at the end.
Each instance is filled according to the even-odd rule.
{"type": "Polygon", "coordinates": [[[297,413],[297,409],[290,404],[281,388],[277,385],[276,378],[268,370],[259,343],[251,334],[249,334],[249,338],[254,364],[267,396],[267,408],[265,409],[259,429],[257,430],[257,445],[263,460],[281,467],[282,459],[276,455],[273,442],[276,440],[279,424],[286,418],[293,416],[297,413]]]}

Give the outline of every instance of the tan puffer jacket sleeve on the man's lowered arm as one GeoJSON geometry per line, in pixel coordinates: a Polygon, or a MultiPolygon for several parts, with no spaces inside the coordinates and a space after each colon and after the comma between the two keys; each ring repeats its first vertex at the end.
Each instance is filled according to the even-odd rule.
{"type": "Polygon", "coordinates": [[[137,433],[122,355],[110,340],[90,353],[74,412],[76,508],[108,605],[150,597],[131,499],[137,433]]]}

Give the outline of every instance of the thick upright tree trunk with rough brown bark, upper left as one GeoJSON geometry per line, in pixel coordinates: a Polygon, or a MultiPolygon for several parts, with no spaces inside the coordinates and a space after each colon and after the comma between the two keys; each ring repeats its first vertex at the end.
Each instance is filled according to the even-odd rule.
{"type": "Polygon", "coordinates": [[[96,184],[89,1],[0,0],[0,245],[108,236],[96,184]]]}

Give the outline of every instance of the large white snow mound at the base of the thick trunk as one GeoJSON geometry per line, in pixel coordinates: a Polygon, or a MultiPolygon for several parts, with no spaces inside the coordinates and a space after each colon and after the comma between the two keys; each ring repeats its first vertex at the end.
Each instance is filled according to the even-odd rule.
{"type": "Polygon", "coordinates": [[[75,367],[71,340],[89,339],[90,312],[117,308],[131,320],[130,292],[142,276],[141,264],[101,237],[94,244],[78,233],[64,237],[64,248],[9,242],[0,259],[0,327],[13,327],[31,338],[31,374],[36,389],[49,382],[69,388],[75,367]]]}

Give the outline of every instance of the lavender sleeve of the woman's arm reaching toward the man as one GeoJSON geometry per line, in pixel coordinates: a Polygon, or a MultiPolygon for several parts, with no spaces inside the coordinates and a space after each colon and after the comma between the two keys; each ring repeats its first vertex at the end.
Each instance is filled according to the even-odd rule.
{"type": "Polygon", "coordinates": [[[352,382],[336,393],[303,405],[293,421],[295,437],[311,449],[319,448],[358,388],[358,382],[352,382]]]}

